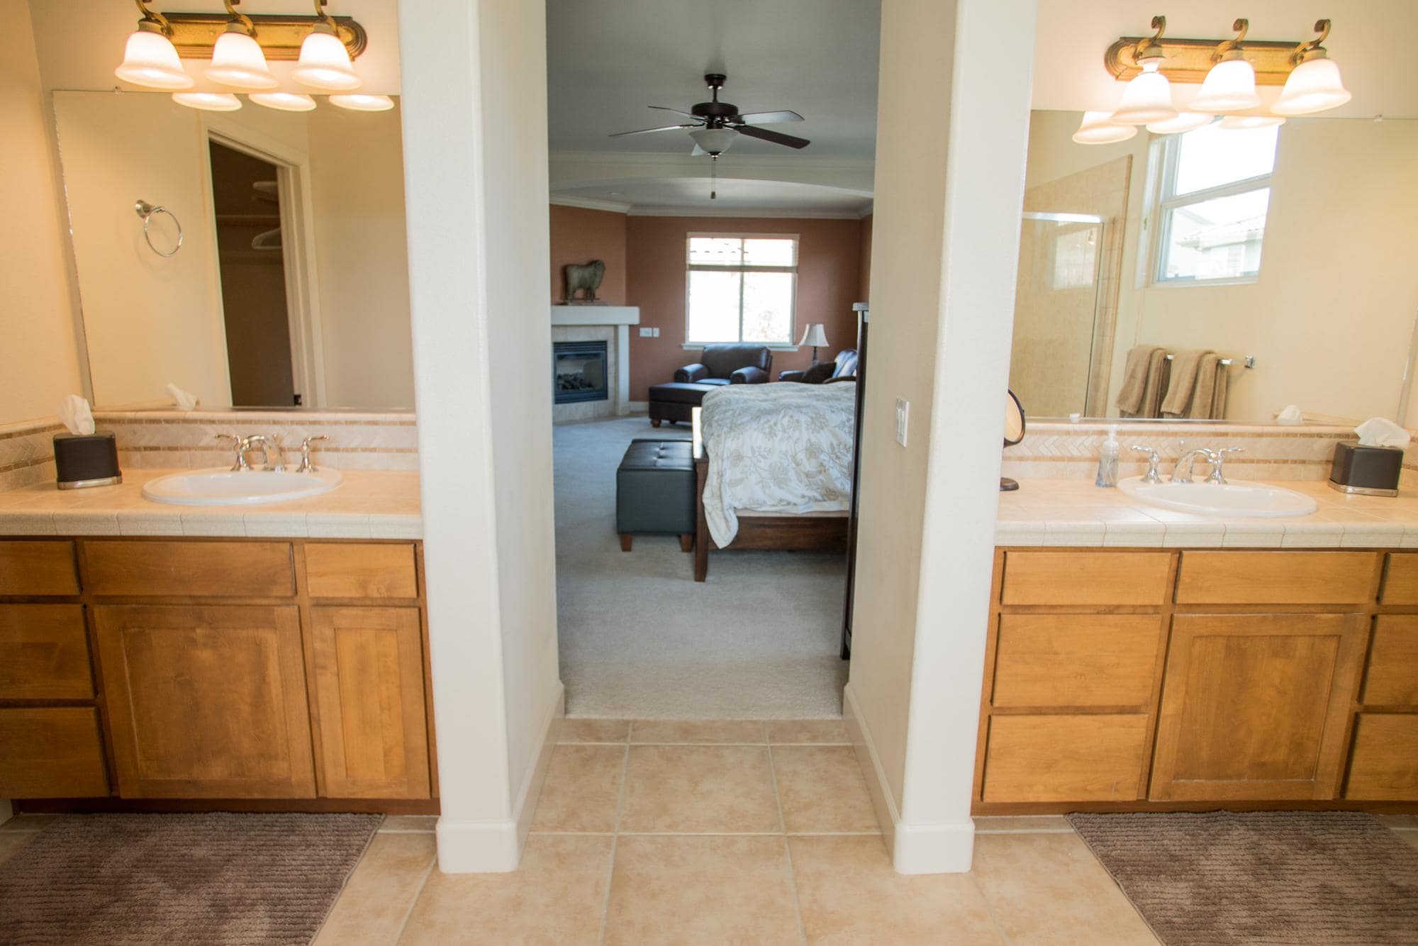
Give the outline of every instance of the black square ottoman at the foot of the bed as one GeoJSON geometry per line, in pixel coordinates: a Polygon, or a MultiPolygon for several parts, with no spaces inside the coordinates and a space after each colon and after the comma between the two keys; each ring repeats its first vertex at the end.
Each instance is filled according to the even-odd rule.
{"type": "Polygon", "coordinates": [[[678,535],[693,549],[695,461],[688,440],[632,440],[615,471],[615,532],[630,552],[637,532],[678,535]]]}

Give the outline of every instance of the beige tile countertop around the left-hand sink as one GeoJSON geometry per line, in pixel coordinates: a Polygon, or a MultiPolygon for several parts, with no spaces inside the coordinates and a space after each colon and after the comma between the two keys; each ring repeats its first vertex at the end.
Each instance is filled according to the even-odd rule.
{"type": "MultiPolygon", "coordinates": [[[[176,506],[142,495],[143,484],[187,469],[128,469],[118,486],[61,491],[52,482],[0,492],[0,535],[272,536],[421,539],[418,474],[343,469],[319,496],[251,506],[176,506]]],[[[252,474],[259,475],[259,474],[252,474]]]]}

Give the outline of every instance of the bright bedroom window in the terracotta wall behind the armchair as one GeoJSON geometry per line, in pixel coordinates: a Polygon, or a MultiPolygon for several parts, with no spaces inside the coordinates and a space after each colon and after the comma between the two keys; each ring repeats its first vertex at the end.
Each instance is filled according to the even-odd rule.
{"type": "Polygon", "coordinates": [[[793,345],[797,237],[691,234],[686,257],[686,345],[793,345]]]}

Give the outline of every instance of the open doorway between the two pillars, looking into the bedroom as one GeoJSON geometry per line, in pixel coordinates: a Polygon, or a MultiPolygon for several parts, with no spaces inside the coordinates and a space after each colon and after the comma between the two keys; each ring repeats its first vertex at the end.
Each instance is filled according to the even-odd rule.
{"type": "MultiPolygon", "coordinates": [[[[710,553],[708,580],[696,581],[685,536],[702,492],[688,444],[675,444],[691,440],[693,404],[651,413],[651,389],[675,384],[692,365],[708,372],[691,367],[686,386],[733,389],[720,400],[771,404],[770,420],[837,404],[835,420],[817,425],[842,430],[830,431],[821,450],[777,437],[794,464],[831,454],[841,467],[825,475],[835,477],[825,502],[787,495],[800,477],[781,464],[771,469],[774,434],[749,438],[757,445],[744,450],[770,469],[780,511],[845,522],[855,384],[781,376],[814,366],[814,379],[832,374],[838,355],[856,347],[852,306],[868,298],[881,11],[858,0],[774,6],[655,6],[647,18],[634,0],[547,4],[553,342],[603,340],[608,349],[605,400],[554,411],[557,628],[571,718],[842,712],[845,553],[729,542],[710,553]],[[672,35],[716,38],[700,47],[665,38],[672,35]],[[696,102],[729,104],[723,115],[743,121],[699,128],[709,122],[695,115],[715,109],[696,102]],[[700,130],[723,135],[691,136],[700,130]],[[594,286],[586,274],[597,274],[594,286]],[[727,365],[736,359],[746,360],[727,365]],[[732,383],[740,369],[746,384],[732,383]],[[665,472],[627,477],[621,467],[634,465],[635,451],[665,472]],[[675,519],[681,495],[688,521],[675,519]],[[644,530],[621,532],[628,506],[648,516],[631,523],[644,530]]],[[[564,400],[559,363],[550,383],[564,400]]],[[[703,390],[683,396],[698,403],[703,390]]]]}

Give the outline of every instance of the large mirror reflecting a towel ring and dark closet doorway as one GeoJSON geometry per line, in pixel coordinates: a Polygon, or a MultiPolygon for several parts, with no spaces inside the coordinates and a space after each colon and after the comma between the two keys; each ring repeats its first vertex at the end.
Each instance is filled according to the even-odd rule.
{"type": "Polygon", "coordinates": [[[54,109],[96,407],[413,407],[397,106],[54,109]]]}

